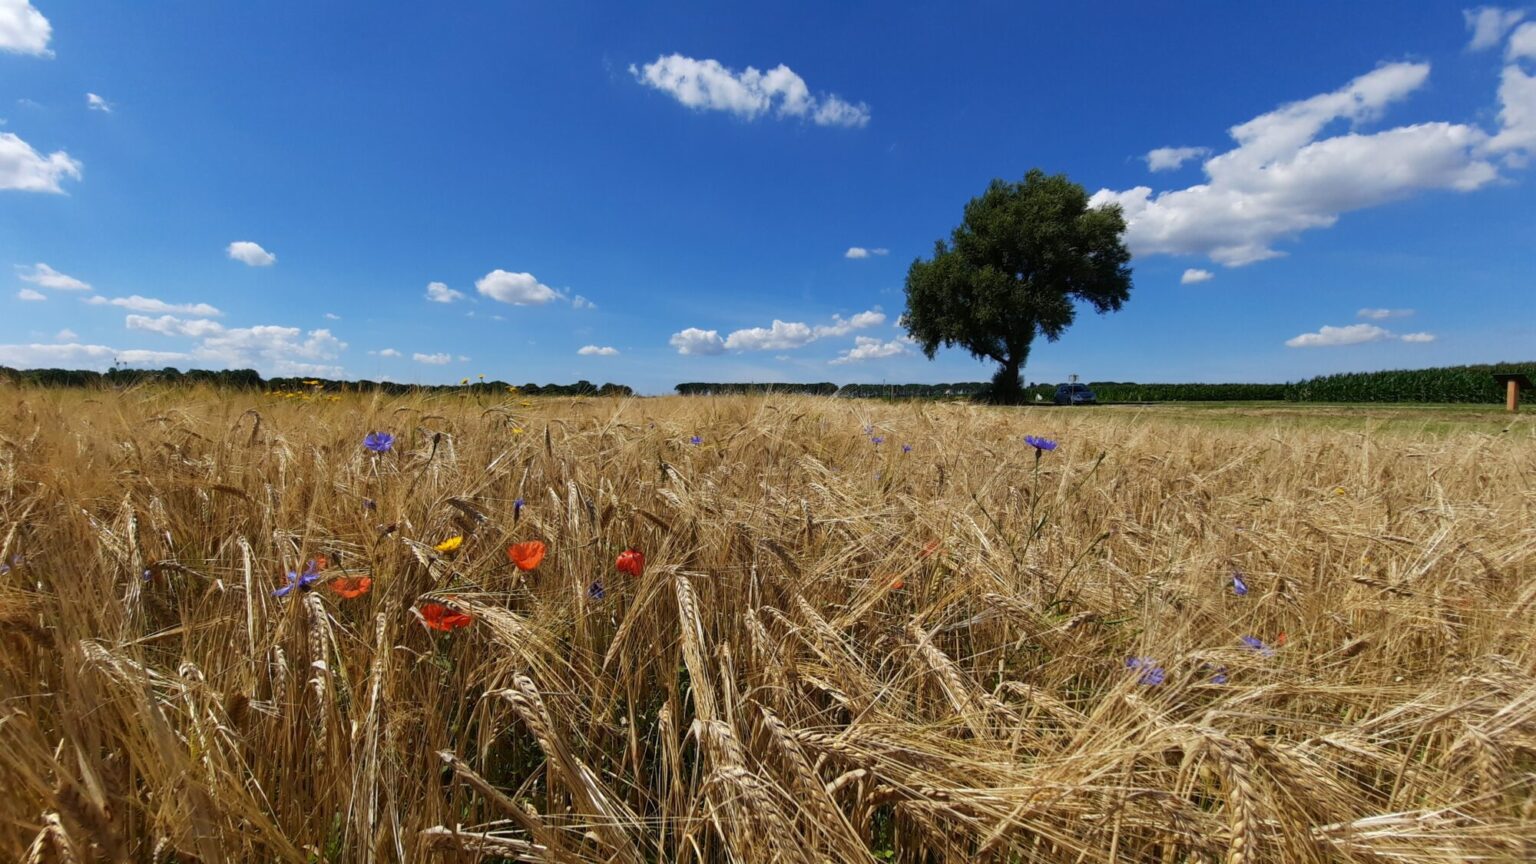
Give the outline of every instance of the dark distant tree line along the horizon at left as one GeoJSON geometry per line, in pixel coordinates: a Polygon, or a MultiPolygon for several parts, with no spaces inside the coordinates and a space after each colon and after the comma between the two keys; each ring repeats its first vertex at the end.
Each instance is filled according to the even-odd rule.
{"type": "Polygon", "coordinates": [[[470,392],[507,395],[516,392],[530,397],[630,397],[634,389],[627,384],[593,384],[591,381],[576,381],[574,384],[519,384],[507,381],[462,381],[459,384],[401,384],[396,381],[338,381],[332,378],[295,378],[278,377],[263,378],[255,369],[109,369],[95,372],[89,369],[11,369],[0,366],[0,380],[12,384],[34,384],[41,387],[131,387],[138,384],[212,384],[217,387],[238,390],[276,390],[276,392],[381,392],[389,395],[435,394],[435,392],[470,392]]]}

